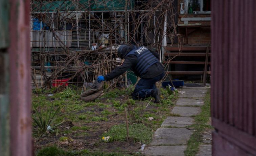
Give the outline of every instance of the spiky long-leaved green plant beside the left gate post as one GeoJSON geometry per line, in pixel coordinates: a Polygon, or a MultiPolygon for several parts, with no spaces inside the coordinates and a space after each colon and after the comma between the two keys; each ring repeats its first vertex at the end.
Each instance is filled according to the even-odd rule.
{"type": "Polygon", "coordinates": [[[32,103],[32,106],[36,112],[36,114],[32,115],[32,123],[38,129],[40,134],[44,134],[46,133],[46,131],[52,131],[56,129],[59,125],[65,122],[65,121],[62,121],[56,125],[51,125],[51,123],[53,123],[54,120],[56,119],[55,116],[59,112],[60,106],[56,109],[56,111],[54,111],[53,104],[50,108],[49,108],[49,103],[47,103],[46,105],[47,105],[46,115],[43,115],[43,111],[39,113],[34,103],[32,103]]]}

